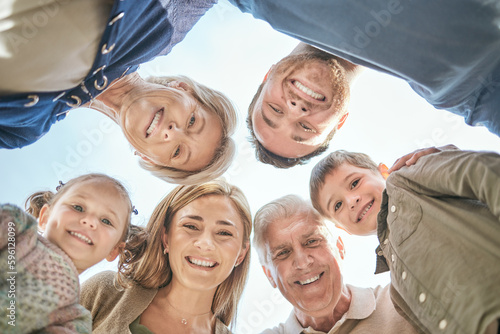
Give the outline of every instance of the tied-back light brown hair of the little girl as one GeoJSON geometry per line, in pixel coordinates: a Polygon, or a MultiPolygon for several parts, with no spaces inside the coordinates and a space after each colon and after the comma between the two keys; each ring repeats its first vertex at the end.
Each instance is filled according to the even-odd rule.
{"type": "Polygon", "coordinates": [[[131,228],[130,221],[133,210],[132,202],[130,201],[128,191],[123,186],[123,184],[120,181],[105,174],[99,174],[99,173],[84,174],[75,177],[64,184],[62,182],[59,182],[59,186],[56,188],[57,191],[55,193],[53,193],[50,190],[38,191],[26,199],[26,202],[24,203],[25,210],[27,213],[31,214],[32,216],[38,219],[40,216],[40,210],[45,204],[47,204],[49,207],[53,206],[69,189],[71,189],[72,186],[88,181],[100,181],[111,184],[121,195],[122,199],[124,199],[127,202],[128,204],[127,221],[125,222],[125,227],[123,229],[122,236],[120,238],[121,241],[125,241],[129,233],[129,230],[131,228]]]}

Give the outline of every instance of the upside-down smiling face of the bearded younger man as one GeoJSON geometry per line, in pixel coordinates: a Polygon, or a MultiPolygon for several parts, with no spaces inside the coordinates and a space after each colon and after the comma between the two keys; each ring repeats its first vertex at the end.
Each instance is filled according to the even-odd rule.
{"type": "Polygon", "coordinates": [[[337,127],[348,91],[335,61],[312,55],[284,58],[271,70],[251,111],[257,140],[286,158],[312,153],[337,127]]]}

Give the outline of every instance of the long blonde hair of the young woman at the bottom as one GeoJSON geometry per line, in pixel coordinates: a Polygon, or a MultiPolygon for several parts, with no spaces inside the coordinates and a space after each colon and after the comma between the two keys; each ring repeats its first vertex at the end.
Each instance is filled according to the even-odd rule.
{"type": "MultiPolygon", "coordinates": [[[[125,246],[120,256],[117,282],[127,287],[133,281],[147,289],[168,285],[172,280],[168,253],[163,254],[162,235],[168,231],[174,215],[196,199],[218,195],[229,198],[243,222],[243,245],[249,242],[252,230],[250,207],[243,192],[223,180],[214,180],[201,185],[178,186],[156,206],[146,228],[138,229],[125,246]]],[[[245,286],[250,268],[250,245],[243,261],[233,269],[215,292],[212,312],[224,324],[235,318],[238,301],[245,286]]]]}

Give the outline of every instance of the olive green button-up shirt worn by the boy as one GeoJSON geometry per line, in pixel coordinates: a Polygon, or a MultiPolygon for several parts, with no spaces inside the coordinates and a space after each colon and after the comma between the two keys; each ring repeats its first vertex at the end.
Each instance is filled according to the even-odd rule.
{"type": "Polygon", "coordinates": [[[484,333],[500,318],[500,156],[445,151],[387,179],[377,273],[425,333],[484,333]]]}

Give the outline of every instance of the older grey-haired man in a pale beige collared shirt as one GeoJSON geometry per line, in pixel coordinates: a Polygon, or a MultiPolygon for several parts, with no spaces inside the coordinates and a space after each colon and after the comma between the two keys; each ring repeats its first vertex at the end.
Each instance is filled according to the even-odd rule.
{"type": "Polygon", "coordinates": [[[269,282],[293,305],[285,323],[263,333],[418,333],[394,309],[389,286],[344,285],[342,243],[301,198],[260,208],[253,242],[269,282]]]}

